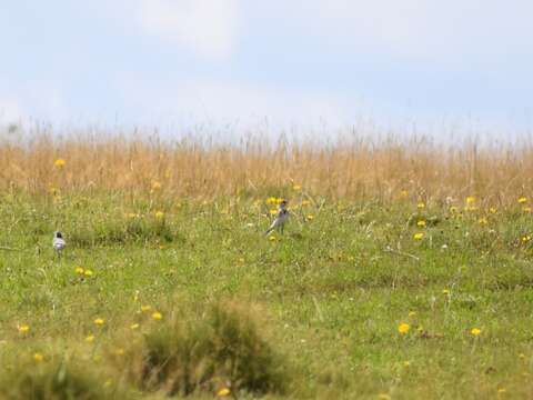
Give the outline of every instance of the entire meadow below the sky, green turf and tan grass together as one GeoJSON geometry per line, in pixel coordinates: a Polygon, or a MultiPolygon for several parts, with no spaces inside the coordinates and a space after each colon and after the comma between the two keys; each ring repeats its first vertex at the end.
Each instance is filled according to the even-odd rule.
{"type": "Polygon", "coordinates": [[[0,398],[533,397],[532,146],[14,134],[0,398]]]}

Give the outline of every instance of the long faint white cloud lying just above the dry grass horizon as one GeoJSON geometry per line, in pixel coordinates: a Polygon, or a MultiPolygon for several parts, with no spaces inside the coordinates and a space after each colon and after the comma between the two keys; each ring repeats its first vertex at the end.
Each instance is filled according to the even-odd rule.
{"type": "Polygon", "coordinates": [[[125,108],[142,121],[185,119],[250,127],[268,120],[276,127],[315,127],[321,121],[348,123],[362,103],[325,91],[290,90],[239,81],[191,79],[150,82],[124,76],[118,87],[125,108]]]}

